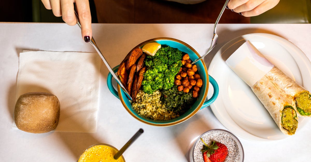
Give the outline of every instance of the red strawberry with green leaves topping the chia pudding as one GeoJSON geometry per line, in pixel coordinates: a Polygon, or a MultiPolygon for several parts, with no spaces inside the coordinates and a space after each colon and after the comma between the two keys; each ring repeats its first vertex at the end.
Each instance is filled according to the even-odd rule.
{"type": "Polygon", "coordinates": [[[213,141],[211,146],[208,146],[203,139],[201,141],[204,143],[203,149],[201,149],[204,157],[206,153],[207,157],[211,162],[223,162],[228,155],[228,148],[222,143],[213,141]]]}

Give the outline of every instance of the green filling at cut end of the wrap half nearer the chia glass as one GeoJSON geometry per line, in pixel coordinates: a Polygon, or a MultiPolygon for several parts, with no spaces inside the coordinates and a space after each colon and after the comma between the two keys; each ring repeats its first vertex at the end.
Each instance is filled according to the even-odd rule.
{"type": "Polygon", "coordinates": [[[282,127],[288,131],[290,135],[295,134],[298,121],[297,115],[292,106],[285,106],[282,110],[282,127]]]}

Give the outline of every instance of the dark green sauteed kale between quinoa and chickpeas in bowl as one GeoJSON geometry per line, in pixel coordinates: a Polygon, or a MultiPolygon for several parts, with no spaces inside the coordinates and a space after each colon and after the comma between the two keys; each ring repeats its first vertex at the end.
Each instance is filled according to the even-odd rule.
{"type": "Polygon", "coordinates": [[[165,105],[165,108],[178,112],[179,114],[185,113],[196,101],[196,98],[192,97],[192,92],[185,93],[178,91],[177,86],[161,92],[162,96],[160,100],[165,105]]]}

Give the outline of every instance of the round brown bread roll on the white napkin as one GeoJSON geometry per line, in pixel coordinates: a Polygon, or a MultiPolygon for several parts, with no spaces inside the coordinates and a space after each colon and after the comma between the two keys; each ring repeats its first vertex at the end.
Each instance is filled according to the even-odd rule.
{"type": "Polygon", "coordinates": [[[46,133],[58,125],[60,104],[50,93],[30,92],[16,101],[14,120],[18,129],[30,133],[46,133]]]}

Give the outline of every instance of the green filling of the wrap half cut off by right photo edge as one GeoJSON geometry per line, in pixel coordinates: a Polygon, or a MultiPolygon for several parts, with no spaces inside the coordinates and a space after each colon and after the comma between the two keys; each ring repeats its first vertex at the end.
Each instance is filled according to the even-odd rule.
{"type": "Polygon", "coordinates": [[[311,95],[308,91],[301,92],[294,97],[297,111],[300,115],[311,114],[311,95]]]}

